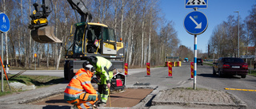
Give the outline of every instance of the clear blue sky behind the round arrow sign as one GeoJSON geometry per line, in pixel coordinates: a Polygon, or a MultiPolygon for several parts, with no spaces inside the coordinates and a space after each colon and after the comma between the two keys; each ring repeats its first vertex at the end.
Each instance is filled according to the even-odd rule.
{"type": "MultiPolygon", "coordinates": [[[[206,53],[206,45],[208,45],[214,27],[221,24],[222,21],[227,21],[229,15],[234,15],[237,18],[238,13],[234,13],[234,11],[239,11],[241,18],[239,21],[244,21],[254,4],[256,4],[255,0],[208,0],[206,9],[198,9],[208,19],[208,28],[204,33],[198,35],[198,49],[206,53]]],[[[186,9],[185,0],[160,0],[160,7],[166,15],[165,18],[168,21],[174,21],[174,29],[178,33],[181,45],[194,49],[194,35],[187,33],[183,26],[184,18],[194,9],[186,9]]]]}

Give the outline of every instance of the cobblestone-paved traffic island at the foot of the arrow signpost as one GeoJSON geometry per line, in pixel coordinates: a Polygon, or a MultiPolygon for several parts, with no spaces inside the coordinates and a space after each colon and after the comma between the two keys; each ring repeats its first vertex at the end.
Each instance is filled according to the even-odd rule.
{"type": "MultiPolygon", "coordinates": [[[[176,105],[191,107],[216,106],[246,108],[246,103],[225,91],[209,90],[206,88],[173,88],[159,91],[153,99],[152,106],[176,105]],[[191,106],[190,106],[191,105],[191,106]]],[[[214,107],[214,108],[216,108],[214,107]]],[[[150,109],[153,109],[150,108],[150,109]]]]}

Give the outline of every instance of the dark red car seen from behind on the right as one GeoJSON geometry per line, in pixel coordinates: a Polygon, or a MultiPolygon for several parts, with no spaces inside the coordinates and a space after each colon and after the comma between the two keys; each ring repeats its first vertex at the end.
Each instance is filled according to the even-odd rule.
{"type": "Polygon", "coordinates": [[[248,73],[248,64],[245,63],[241,58],[236,57],[221,57],[213,64],[213,74],[218,76],[232,75],[241,76],[246,78],[248,73]]]}

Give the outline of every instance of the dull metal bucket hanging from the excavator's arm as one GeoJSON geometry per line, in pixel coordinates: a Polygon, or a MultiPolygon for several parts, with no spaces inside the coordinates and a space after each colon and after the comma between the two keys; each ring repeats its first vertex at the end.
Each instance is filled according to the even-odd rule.
{"type": "Polygon", "coordinates": [[[31,30],[31,37],[39,43],[62,43],[54,35],[54,26],[45,26],[39,29],[31,30]]]}

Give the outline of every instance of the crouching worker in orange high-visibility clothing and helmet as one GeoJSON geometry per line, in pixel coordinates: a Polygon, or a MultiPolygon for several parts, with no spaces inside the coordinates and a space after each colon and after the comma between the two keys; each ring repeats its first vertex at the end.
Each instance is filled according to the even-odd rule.
{"type": "MultiPolygon", "coordinates": [[[[95,68],[86,60],[82,64],[82,68],[75,73],[64,91],[64,99],[74,108],[86,109],[93,108],[94,103],[98,101],[98,92],[94,89],[90,80],[94,76],[95,68]]],[[[96,104],[95,104],[96,105],[96,104]]],[[[97,107],[97,106],[96,106],[97,107]]]]}

